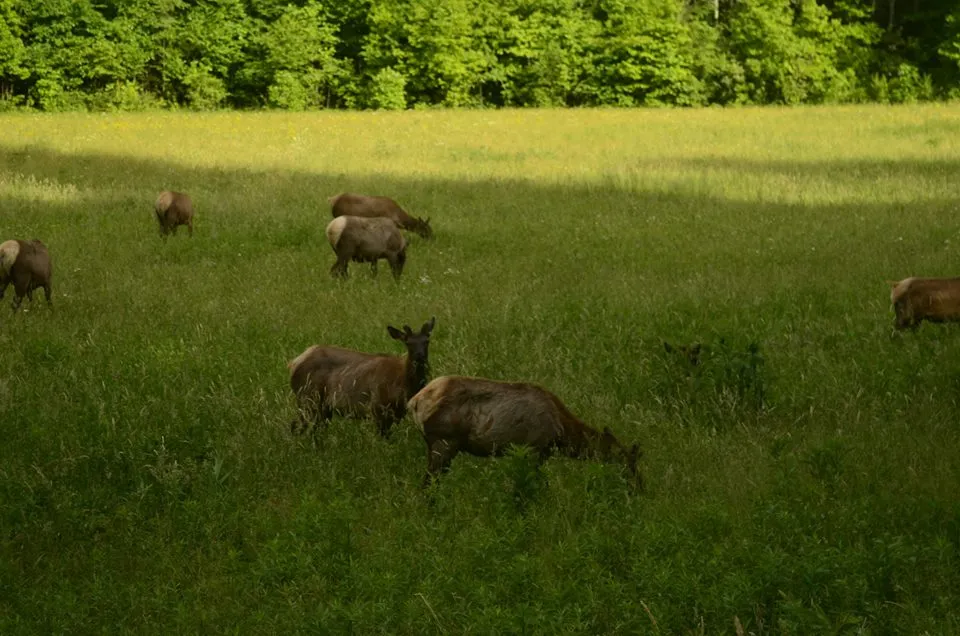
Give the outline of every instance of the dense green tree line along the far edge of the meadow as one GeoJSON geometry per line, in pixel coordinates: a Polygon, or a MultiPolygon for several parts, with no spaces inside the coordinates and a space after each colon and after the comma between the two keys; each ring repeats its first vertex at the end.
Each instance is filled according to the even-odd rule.
{"type": "Polygon", "coordinates": [[[955,2],[0,0],[7,108],[911,102],[958,86],[955,2]]]}

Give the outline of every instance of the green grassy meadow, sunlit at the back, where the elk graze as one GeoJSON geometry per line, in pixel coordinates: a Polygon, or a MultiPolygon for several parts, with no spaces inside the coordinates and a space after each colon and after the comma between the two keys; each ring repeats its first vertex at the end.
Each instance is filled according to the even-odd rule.
{"type": "Polygon", "coordinates": [[[960,633],[960,106],[0,116],[0,633],[960,633]],[[196,232],[163,242],[162,189],[196,232]],[[326,198],[431,217],[334,281],[326,198]],[[621,467],[293,437],[311,344],[540,383],[621,467]],[[663,341],[705,345],[686,365],[663,341]],[[757,352],[751,354],[749,347],[757,352]]]}

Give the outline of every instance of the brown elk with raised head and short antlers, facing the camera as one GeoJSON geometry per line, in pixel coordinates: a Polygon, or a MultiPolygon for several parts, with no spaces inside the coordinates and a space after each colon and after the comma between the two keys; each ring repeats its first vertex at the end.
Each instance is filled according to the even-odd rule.
{"type": "Polygon", "coordinates": [[[407,347],[406,357],[371,354],[314,345],[291,360],[290,388],[300,411],[291,425],[294,433],[310,423],[326,426],[334,414],[353,418],[371,417],[380,434],[403,419],[407,400],[422,389],[430,375],[430,332],[436,318],[414,333],[388,326],[394,340],[407,347]]]}

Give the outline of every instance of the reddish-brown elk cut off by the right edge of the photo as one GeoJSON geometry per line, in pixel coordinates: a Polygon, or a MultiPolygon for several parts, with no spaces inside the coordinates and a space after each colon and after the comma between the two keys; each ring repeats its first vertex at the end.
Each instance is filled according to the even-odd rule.
{"type": "Polygon", "coordinates": [[[905,278],[890,284],[897,329],[915,329],[924,320],[960,320],[960,278],[905,278]]]}

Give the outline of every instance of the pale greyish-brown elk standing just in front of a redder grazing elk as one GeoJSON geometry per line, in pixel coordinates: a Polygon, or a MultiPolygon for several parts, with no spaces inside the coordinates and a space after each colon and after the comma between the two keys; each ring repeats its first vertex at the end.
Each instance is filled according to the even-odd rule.
{"type": "Polygon", "coordinates": [[[337,255],[330,268],[332,276],[346,277],[350,261],[371,263],[376,274],[382,258],[399,279],[407,262],[407,242],[390,219],[339,216],[327,225],[327,240],[337,255]]]}

